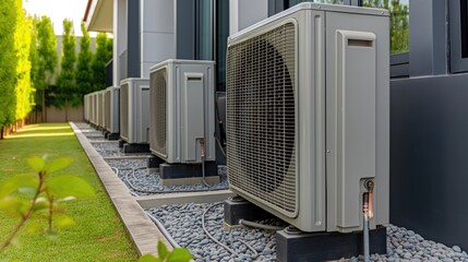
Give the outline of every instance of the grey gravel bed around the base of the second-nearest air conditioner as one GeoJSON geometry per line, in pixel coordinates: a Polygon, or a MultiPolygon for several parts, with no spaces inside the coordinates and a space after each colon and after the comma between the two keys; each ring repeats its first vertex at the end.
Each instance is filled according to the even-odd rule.
{"type": "Polygon", "coordinates": [[[119,169],[119,178],[129,187],[130,191],[137,195],[152,195],[158,193],[175,193],[183,191],[208,191],[228,189],[226,166],[218,167],[220,182],[206,187],[203,183],[163,186],[160,184],[159,174],[148,171],[145,159],[119,159],[107,160],[110,167],[119,169]],[[133,172],[132,168],[135,168],[133,172]]]}

